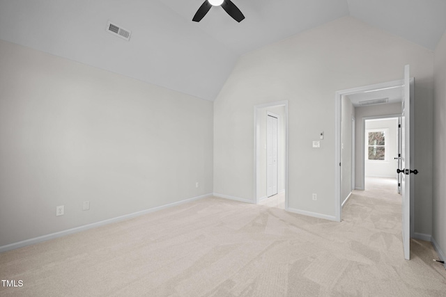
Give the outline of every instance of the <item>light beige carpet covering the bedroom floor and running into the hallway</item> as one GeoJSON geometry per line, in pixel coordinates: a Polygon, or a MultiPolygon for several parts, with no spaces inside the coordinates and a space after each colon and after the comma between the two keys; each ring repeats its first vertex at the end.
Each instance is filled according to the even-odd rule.
{"type": "Polygon", "coordinates": [[[209,198],[0,254],[0,296],[446,296],[431,243],[403,259],[401,198],[355,191],[341,223],[209,198]]]}

